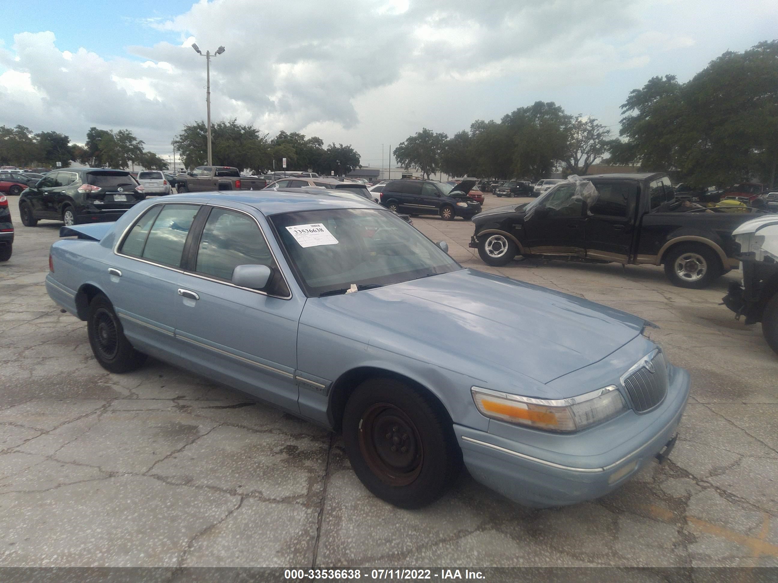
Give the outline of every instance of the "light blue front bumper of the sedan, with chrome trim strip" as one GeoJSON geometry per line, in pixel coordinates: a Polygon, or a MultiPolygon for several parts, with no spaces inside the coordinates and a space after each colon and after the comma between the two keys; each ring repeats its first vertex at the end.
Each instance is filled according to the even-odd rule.
{"type": "Polygon", "coordinates": [[[554,451],[455,424],[464,465],[481,484],[534,508],[577,504],[604,496],[652,463],[657,454],[667,456],[668,449],[675,445],[678,423],[689,398],[689,373],[671,365],[670,379],[668,395],[650,417],[629,411],[577,434],[554,435],[554,451]],[[626,442],[602,452],[615,443],[615,423],[634,423],[639,430],[626,442]]]}

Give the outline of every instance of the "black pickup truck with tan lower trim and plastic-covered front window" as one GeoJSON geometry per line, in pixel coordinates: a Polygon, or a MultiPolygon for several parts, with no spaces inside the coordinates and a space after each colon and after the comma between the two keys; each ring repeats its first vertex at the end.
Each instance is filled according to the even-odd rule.
{"type": "Polygon", "coordinates": [[[665,173],[603,174],[557,184],[518,206],[476,215],[470,246],[489,265],[513,257],[664,264],[674,285],[705,288],[738,267],[732,231],[755,209],[688,209],[665,173]],[[592,188],[594,187],[594,188],[592,188]]]}

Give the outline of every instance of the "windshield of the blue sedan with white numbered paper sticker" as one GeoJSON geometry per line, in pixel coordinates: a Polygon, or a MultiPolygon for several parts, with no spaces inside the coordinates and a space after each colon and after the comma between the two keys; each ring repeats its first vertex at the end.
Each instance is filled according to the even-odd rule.
{"type": "Polygon", "coordinates": [[[308,297],[345,291],[352,284],[389,285],[461,269],[385,210],[302,211],[270,219],[308,297]]]}

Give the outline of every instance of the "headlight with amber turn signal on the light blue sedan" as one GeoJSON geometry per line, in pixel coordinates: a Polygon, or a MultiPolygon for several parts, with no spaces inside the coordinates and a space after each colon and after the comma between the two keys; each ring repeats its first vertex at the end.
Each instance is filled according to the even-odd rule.
{"type": "Polygon", "coordinates": [[[471,388],[475,407],[485,417],[545,431],[580,431],[626,410],[619,389],[606,386],[570,399],[533,399],[471,388]]]}

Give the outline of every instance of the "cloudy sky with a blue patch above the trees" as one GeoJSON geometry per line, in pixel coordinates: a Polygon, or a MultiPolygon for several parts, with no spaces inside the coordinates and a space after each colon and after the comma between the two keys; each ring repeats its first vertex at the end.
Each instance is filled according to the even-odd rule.
{"type": "Polygon", "coordinates": [[[25,0],[2,19],[0,124],[79,142],[128,127],[168,153],[205,119],[196,41],[226,47],[213,120],[350,143],[370,166],[422,127],[454,134],[538,99],[617,132],[651,76],[685,81],[778,35],[775,0],[25,0]]]}

